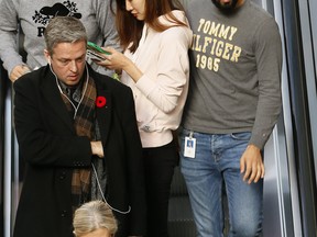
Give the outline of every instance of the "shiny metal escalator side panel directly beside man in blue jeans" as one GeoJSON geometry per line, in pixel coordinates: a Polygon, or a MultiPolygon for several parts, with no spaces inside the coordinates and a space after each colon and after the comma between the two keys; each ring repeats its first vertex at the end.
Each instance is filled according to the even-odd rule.
{"type": "Polygon", "coordinates": [[[297,215],[300,212],[300,206],[294,151],[289,71],[287,70],[287,44],[289,43],[284,37],[287,35],[285,32],[287,29],[285,29],[284,1],[258,0],[256,3],[275,18],[283,44],[283,111],[264,149],[266,173],[264,178],[263,236],[302,236],[302,216],[297,215]]]}

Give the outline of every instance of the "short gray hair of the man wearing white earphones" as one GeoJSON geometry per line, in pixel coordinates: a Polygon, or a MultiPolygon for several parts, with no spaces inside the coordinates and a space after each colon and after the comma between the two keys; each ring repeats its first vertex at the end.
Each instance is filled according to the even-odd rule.
{"type": "Polygon", "coordinates": [[[73,16],[55,16],[45,29],[44,38],[50,55],[58,43],[87,42],[84,24],[73,16]]]}

